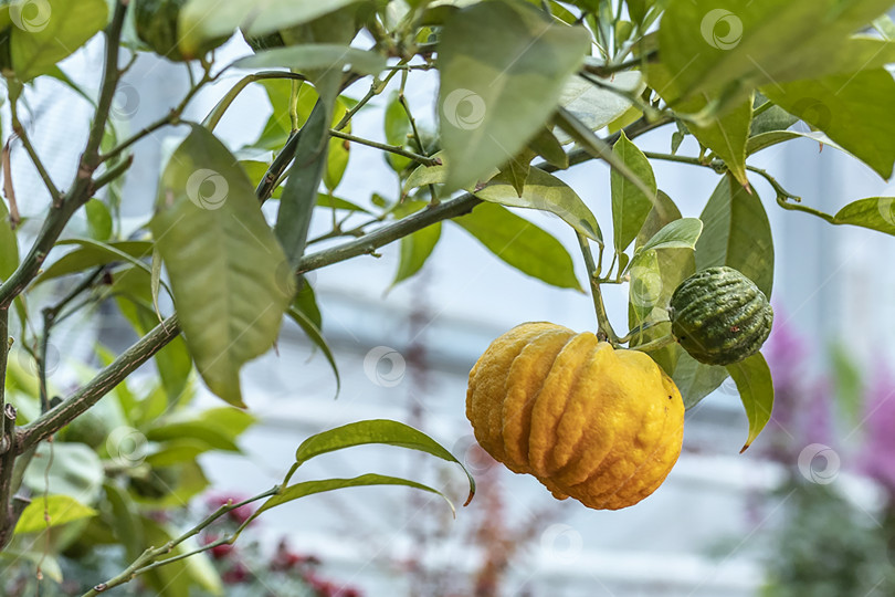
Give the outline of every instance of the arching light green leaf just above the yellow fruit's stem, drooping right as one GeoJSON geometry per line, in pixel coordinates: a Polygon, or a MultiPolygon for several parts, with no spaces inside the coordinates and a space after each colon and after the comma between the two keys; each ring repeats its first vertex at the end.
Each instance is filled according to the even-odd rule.
{"type": "Polygon", "coordinates": [[[522,197],[503,177],[493,179],[485,188],[475,191],[478,199],[519,207],[549,211],[565,220],[578,232],[599,243],[603,242],[600,224],[588,206],[578,197],[571,187],[557,177],[539,168],[531,168],[525,180],[522,197]]]}

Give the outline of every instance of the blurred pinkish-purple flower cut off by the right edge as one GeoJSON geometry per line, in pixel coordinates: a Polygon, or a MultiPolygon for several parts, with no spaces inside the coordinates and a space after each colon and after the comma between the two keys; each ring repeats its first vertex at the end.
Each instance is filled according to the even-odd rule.
{"type": "Polygon", "coordinates": [[[860,469],[895,496],[895,377],[883,367],[867,392],[860,469]]]}

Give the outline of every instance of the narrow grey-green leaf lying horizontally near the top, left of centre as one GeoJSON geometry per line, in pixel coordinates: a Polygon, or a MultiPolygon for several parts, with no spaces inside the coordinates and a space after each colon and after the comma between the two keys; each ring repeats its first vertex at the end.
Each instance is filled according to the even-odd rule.
{"type": "Polygon", "coordinates": [[[251,56],[238,60],[238,69],[286,67],[297,72],[308,69],[335,69],[350,64],[351,71],[359,74],[375,75],[386,67],[386,56],[368,50],[359,50],[335,43],[307,43],[289,48],[265,50],[251,56]]]}

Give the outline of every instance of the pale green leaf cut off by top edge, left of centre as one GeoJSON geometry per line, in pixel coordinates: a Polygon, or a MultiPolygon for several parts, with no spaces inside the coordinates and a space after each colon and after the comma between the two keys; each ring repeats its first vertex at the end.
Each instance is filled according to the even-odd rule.
{"type": "MultiPolygon", "coordinates": [[[[196,56],[208,41],[229,38],[236,28],[249,38],[307,23],[358,0],[189,0],[180,12],[178,42],[187,56],[196,56]]],[[[367,3],[367,2],[364,2],[367,3]]]]}

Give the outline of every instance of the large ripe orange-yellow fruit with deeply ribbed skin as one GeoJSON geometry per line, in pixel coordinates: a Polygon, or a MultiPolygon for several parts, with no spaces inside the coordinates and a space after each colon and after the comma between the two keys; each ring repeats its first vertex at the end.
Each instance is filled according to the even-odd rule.
{"type": "Polygon", "coordinates": [[[488,346],[470,373],[466,417],[495,460],[597,510],[653,493],[684,434],[681,392],[653,359],[551,323],[488,346]]]}

